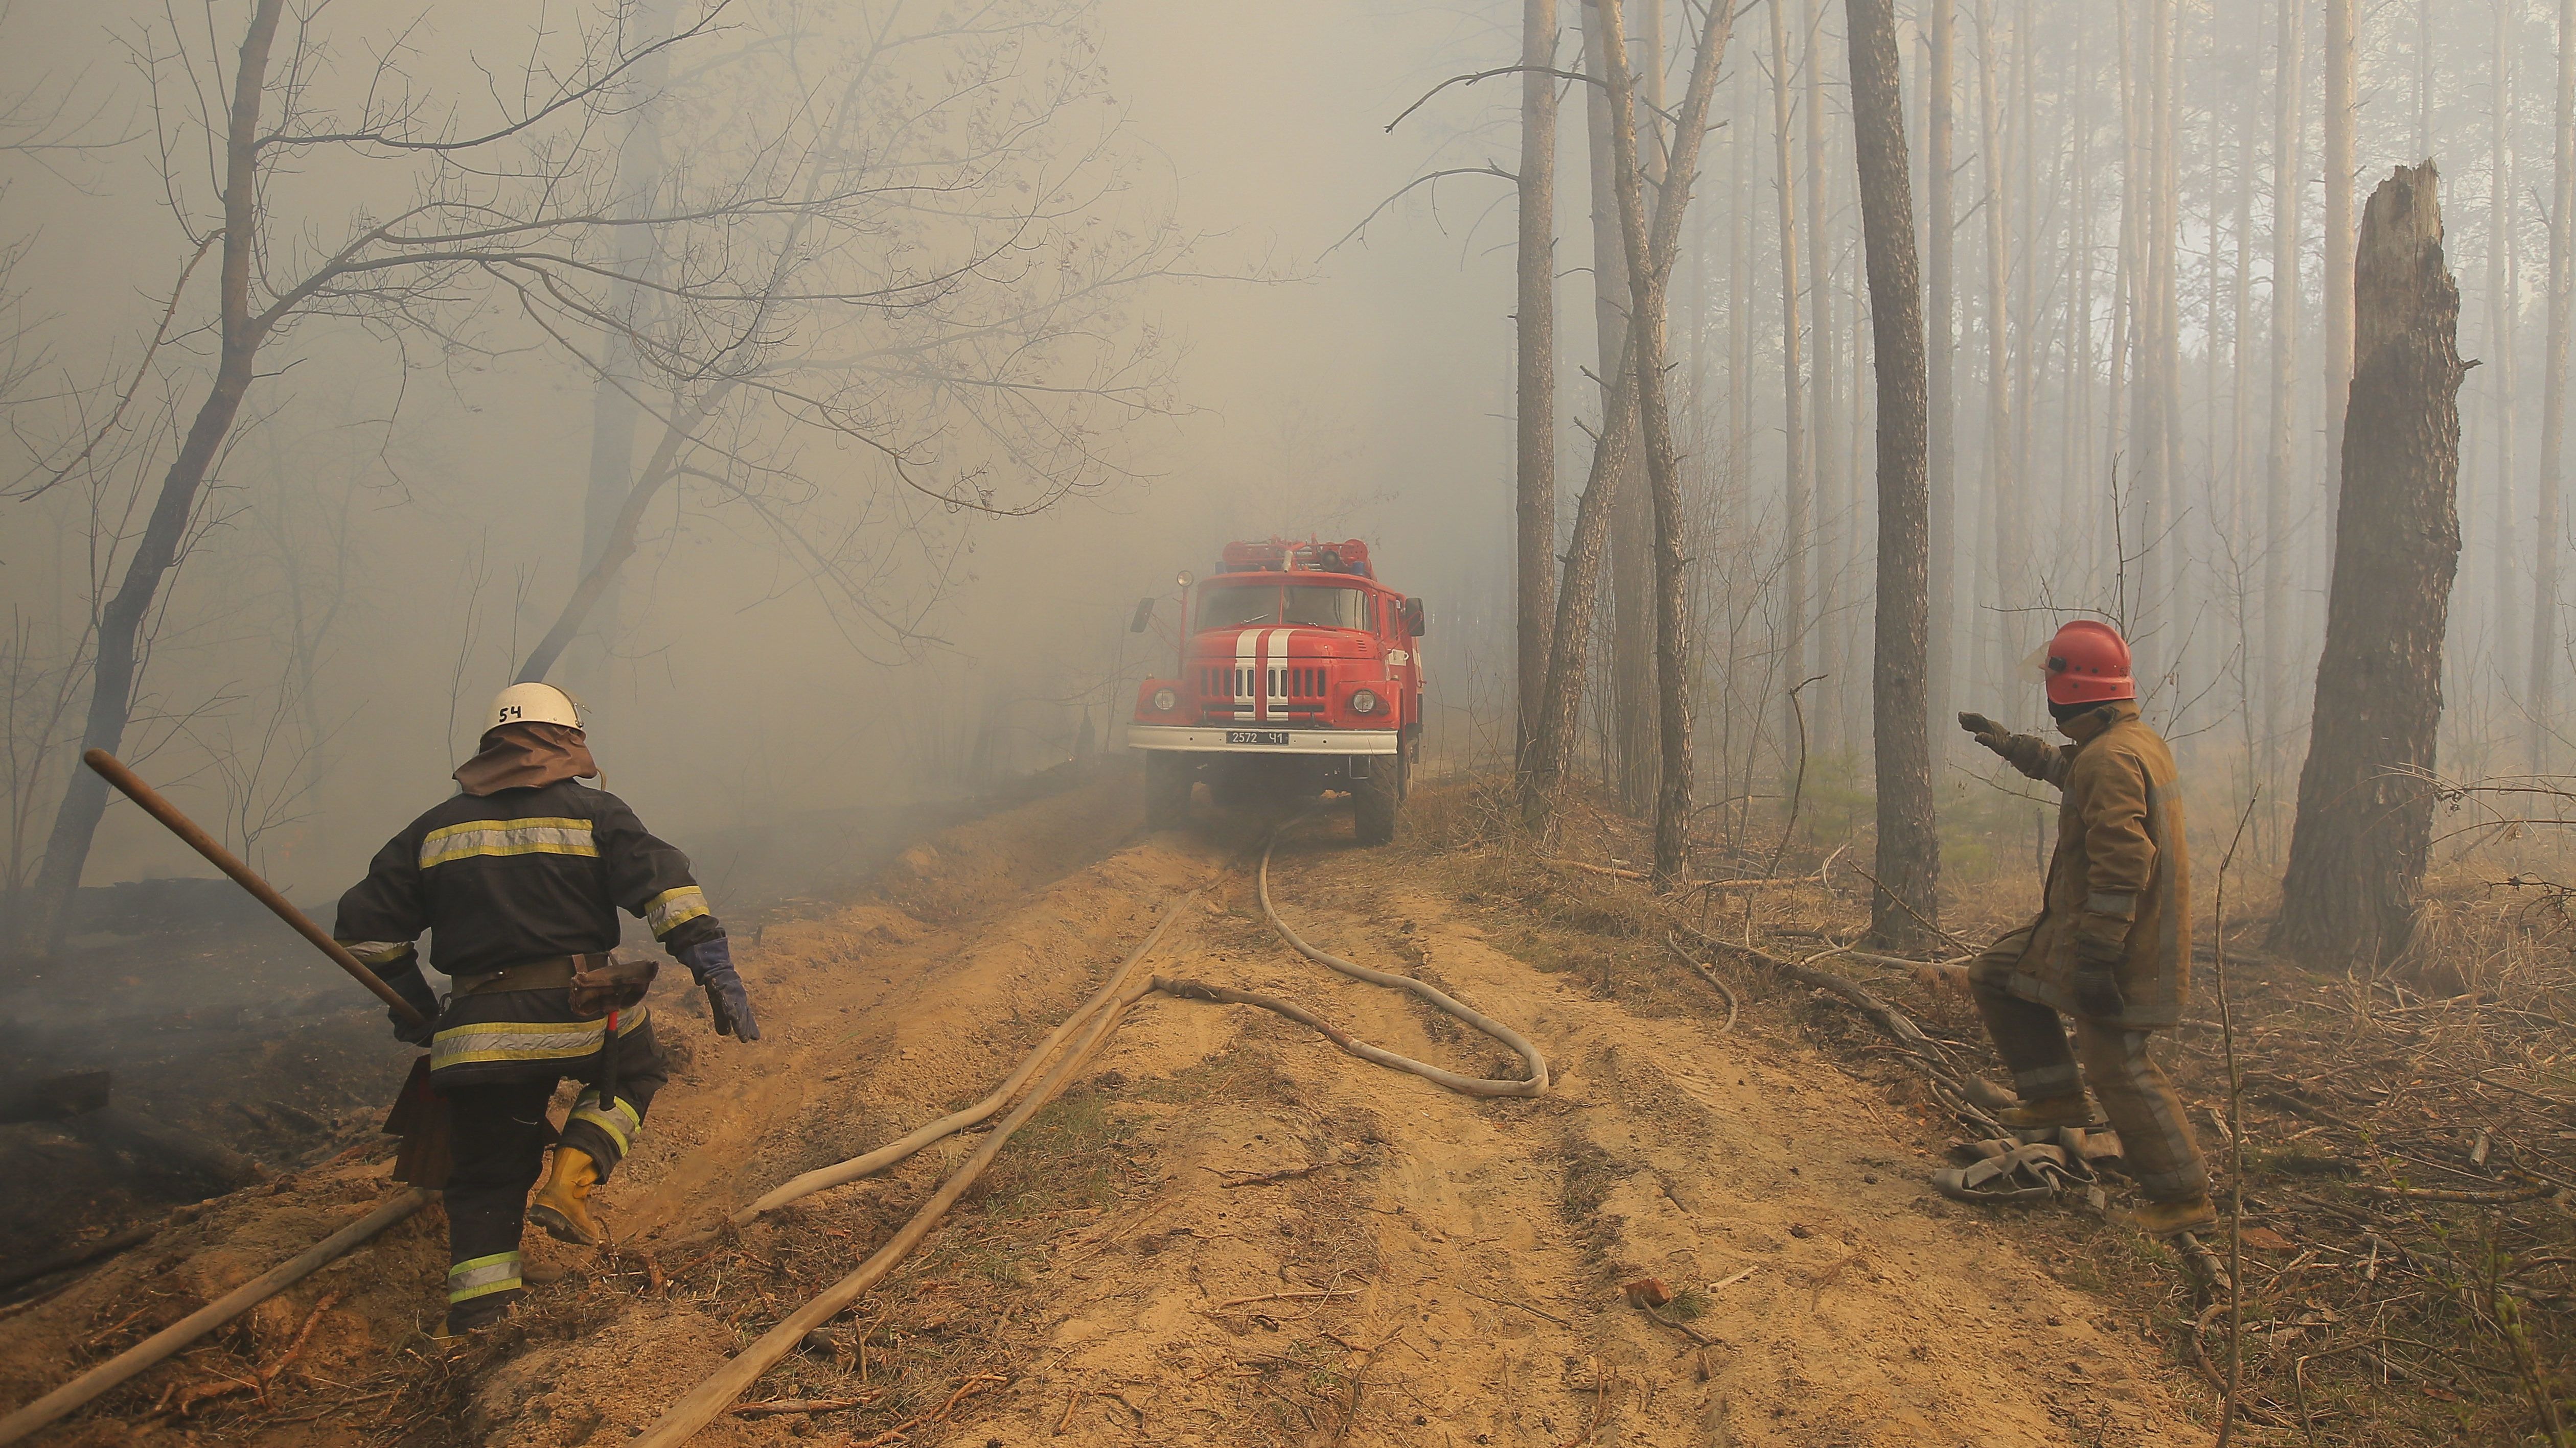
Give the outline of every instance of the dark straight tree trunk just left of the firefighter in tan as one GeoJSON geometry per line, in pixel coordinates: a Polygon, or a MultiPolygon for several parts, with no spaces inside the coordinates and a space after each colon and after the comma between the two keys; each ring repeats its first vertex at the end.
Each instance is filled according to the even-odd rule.
{"type": "MultiPolygon", "coordinates": [[[[1852,54],[1852,149],[1870,265],[1878,353],[1878,886],[1870,938],[1911,946],[1940,920],[1940,835],[1932,832],[1927,719],[1927,399],[1922,278],[1914,263],[1914,183],[1896,70],[1893,0],[1844,0],[1852,54]]],[[[1935,216],[1935,237],[1945,227],[1935,216]]]]}

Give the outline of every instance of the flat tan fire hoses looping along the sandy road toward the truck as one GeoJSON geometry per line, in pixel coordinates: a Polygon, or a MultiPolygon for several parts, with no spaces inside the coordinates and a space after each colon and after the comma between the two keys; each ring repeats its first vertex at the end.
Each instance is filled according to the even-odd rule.
{"type": "Polygon", "coordinates": [[[811,1196],[817,1190],[858,1180],[873,1170],[884,1170],[909,1157],[912,1152],[920,1152],[930,1141],[938,1141],[940,1136],[963,1131],[966,1126],[984,1121],[999,1108],[1002,1100],[1010,1098],[1012,1090],[1018,1090],[1018,1082],[1025,1082],[1038,1069],[1038,1064],[1056,1051],[1056,1046],[1061,1046],[1069,1036],[1074,1036],[1074,1031],[1079,1031],[1079,1041],[1054,1064],[1054,1069],[1046,1072],[1046,1077],[1020,1100],[1020,1105],[1002,1118],[1002,1126],[997,1126],[992,1136],[987,1136],[984,1144],[976,1147],[976,1152],[966,1157],[966,1162],[956,1172],[951,1172],[945,1183],[940,1183],[940,1188],[930,1196],[930,1201],[922,1203],[922,1208],[912,1216],[912,1221],[907,1221],[884,1247],[878,1247],[850,1275],[840,1278],[837,1283],[809,1299],[804,1306],[781,1319],[778,1327],[762,1332],[757,1342],[752,1342],[732,1360],[726,1360],[721,1368],[708,1373],[703,1381],[698,1381],[698,1386],[680,1394],[677,1402],[662,1409],[659,1422],[647,1427],[644,1435],[636,1438],[629,1448],[677,1448],[680,1443],[688,1443],[701,1427],[724,1415],[724,1409],[732,1407],[734,1399],[739,1399],[744,1389],[750,1389],[762,1373],[775,1368],[781,1358],[793,1353],[796,1345],[804,1342],[806,1332],[814,1332],[824,1322],[832,1322],[835,1317],[842,1314],[842,1309],[858,1301],[863,1291],[886,1281],[886,1275],[914,1247],[920,1247],[920,1242],[930,1234],[930,1229],[938,1226],[940,1216],[945,1216],[948,1208],[956,1206],[956,1201],[966,1193],[966,1188],[971,1188],[976,1177],[984,1175],[984,1167],[989,1167],[992,1159],[1002,1152],[1002,1144],[1010,1141],[1012,1131],[1018,1131],[1023,1123],[1028,1123],[1030,1116],[1038,1113],[1038,1108],[1054,1100],[1054,1095],[1064,1087],[1066,1077],[1072,1077],[1072,1072],[1079,1069],[1079,1064],[1090,1059],[1092,1051],[1100,1049],[1100,1043],[1110,1036],[1110,1031],[1118,1028],[1128,1007],[1144,1000],[1146,995],[1162,992],[1180,1000],[1260,1005],[1262,1010],[1273,1010],[1278,1015],[1285,1015],[1291,1020],[1321,1031],[1327,1038],[1332,1038],[1334,1046],[1350,1051],[1352,1056],[1360,1056],[1363,1062],[1376,1062],[1388,1069],[1412,1072],[1422,1080],[1430,1080],[1435,1085],[1443,1085],[1463,1095],[1486,1095],[1486,1098],[1543,1095],[1548,1090],[1548,1059],[1525,1036],[1486,1015],[1479,1015],[1476,1010],[1453,1000],[1448,992],[1437,987],[1430,987],[1412,976],[1373,971],[1368,966],[1358,966],[1352,961],[1319,951],[1309,946],[1296,930],[1291,930],[1285,920],[1280,920],[1278,907],[1273,907],[1270,902],[1270,855],[1278,850],[1278,837],[1280,832],[1288,830],[1288,824],[1296,824],[1296,819],[1275,827],[1270,832],[1270,840],[1262,845],[1257,886],[1260,886],[1262,917],[1270,920],[1270,928],[1278,930],[1278,935],[1288,940],[1288,946],[1296,948],[1296,953],[1306,956],[1309,961],[1316,961],[1319,966],[1327,966],[1332,971],[1370,984],[1412,992],[1414,997],[1430,1002],[1445,1015],[1463,1020],[1466,1025],[1473,1025],[1476,1031],[1492,1036],[1494,1041],[1502,1041],[1522,1059],[1522,1064],[1528,1067],[1528,1077],[1479,1080],[1479,1077],[1461,1077],[1455,1072],[1443,1072],[1440,1067],[1430,1067],[1425,1062],[1399,1056],[1394,1051],[1370,1046],[1365,1041],[1355,1041],[1347,1033],[1327,1025],[1314,1013],[1265,995],[1239,992],[1231,987],[1211,987],[1200,982],[1180,982],[1167,976],[1149,976],[1144,984],[1128,984],[1128,976],[1136,971],[1136,964],[1144,961],[1146,951],[1151,951],[1157,940],[1162,940],[1164,928],[1180,917],[1182,907],[1198,899],[1198,894],[1193,891],[1190,897],[1180,899],[1177,904],[1172,904],[1172,910],[1164,912],[1164,917],[1154,925],[1154,930],[1144,938],[1144,943],[1136,946],[1136,951],[1131,951],[1126,961],[1118,964],[1115,971],[1110,971],[1110,979],[1079,1010],[1074,1010],[1061,1025],[1056,1025],[1056,1031],[1048,1033],[1046,1041],[1041,1041],[1038,1049],[1030,1051],[1025,1062],[1020,1062],[1020,1069],[1015,1069],[1002,1082],[1002,1087],[994,1090],[994,1095],[979,1100],[976,1105],[969,1105],[966,1110],[943,1116],[940,1121],[933,1121],[930,1126],[922,1126],[920,1131],[912,1131],[909,1136],[889,1147],[878,1147],[866,1157],[853,1157],[835,1167],[806,1172],[786,1183],[783,1188],[762,1196],[744,1211],[734,1214],[737,1224],[750,1221],[762,1211],[773,1211],[801,1196],[811,1196]]]}

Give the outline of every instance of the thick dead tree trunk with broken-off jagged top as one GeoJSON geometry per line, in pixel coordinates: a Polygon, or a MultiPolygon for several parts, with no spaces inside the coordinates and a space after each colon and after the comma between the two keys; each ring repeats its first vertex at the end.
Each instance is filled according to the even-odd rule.
{"type": "Polygon", "coordinates": [[[2344,508],[2316,721],[2272,943],[2313,964],[2393,961],[2432,850],[2442,634],[2460,567],[2460,286],[2432,162],[2370,196],[2344,508]]]}

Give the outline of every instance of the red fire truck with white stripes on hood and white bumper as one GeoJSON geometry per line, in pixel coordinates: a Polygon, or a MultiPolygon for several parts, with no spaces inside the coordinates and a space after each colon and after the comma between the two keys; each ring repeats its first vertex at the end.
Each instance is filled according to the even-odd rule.
{"type": "Polygon", "coordinates": [[[1358,538],[1226,544],[1180,585],[1177,678],[1144,680],[1128,724],[1146,824],[1182,824],[1208,781],[1218,804],[1350,791],[1358,840],[1394,840],[1422,750],[1422,600],[1381,585],[1358,538]]]}

